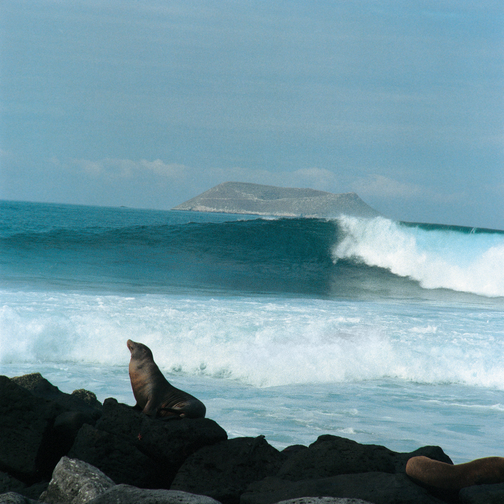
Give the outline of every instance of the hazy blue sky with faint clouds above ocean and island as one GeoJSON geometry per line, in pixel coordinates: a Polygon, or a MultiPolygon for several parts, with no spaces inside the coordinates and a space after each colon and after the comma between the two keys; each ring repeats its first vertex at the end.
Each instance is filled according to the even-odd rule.
{"type": "Polygon", "coordinates": [[[501,2],[6,0],[0,198],[226,180],[504,229],[501,2]]]}

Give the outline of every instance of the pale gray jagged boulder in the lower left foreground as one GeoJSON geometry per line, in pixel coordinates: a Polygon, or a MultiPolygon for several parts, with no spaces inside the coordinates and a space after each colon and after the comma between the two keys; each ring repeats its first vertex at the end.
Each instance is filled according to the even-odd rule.
{"type": "Polygon", "coordinates": [[[39,500],[49,504],[84,504],[112,486],[115,483],[96,467],[82,460],[61,457],[39,500]]]}

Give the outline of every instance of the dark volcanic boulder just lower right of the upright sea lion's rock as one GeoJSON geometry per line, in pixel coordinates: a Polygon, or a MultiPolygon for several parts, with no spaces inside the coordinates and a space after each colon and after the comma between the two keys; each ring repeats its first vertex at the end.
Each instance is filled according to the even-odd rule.
{"type": "Polygon", "coordinates": [[[236,437],[188,457],[170,488],[238,504],[251,482],[275,474],[282,462],[280,452],[264,436],[236,437]]]}

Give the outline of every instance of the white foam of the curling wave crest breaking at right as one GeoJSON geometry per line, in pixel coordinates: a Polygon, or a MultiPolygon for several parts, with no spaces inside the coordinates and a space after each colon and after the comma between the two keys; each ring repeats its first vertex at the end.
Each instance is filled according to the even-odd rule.
{"type": "Polygon", "coordinates": [[[410,277],[427,289],[444,287],[504,296],[504,236],[423,230],[376,217],[341,217],[334,260],[354,259],[410,277]]]}

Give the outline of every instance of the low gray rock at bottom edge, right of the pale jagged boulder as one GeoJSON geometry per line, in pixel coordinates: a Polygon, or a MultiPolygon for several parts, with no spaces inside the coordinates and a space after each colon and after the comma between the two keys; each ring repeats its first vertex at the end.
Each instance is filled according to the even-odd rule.
{"type": "Polygon", "coordinates": [[[116,485],[88,504],[219,504],[206,495],[177,490],[142,490],[130,485],[116,485]]]}

